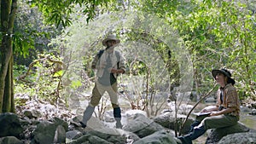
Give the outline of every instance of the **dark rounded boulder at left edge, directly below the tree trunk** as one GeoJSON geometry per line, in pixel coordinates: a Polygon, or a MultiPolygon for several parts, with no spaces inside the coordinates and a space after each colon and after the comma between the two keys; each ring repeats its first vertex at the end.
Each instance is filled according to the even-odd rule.
{"type": "Polygon", "coordinates": [[[19,138],[22,131],[20,119],[15,113],[5,112],[0,114],[0,137],[15,136],[19,138]]]}

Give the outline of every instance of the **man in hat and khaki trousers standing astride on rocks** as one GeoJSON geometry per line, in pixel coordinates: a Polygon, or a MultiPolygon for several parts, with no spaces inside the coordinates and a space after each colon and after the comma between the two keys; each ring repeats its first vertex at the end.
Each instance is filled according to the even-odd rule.
{"type": "Polygon", "coordinates": [[[116,121],[116,128],[122,129],[121,109],[118,102],[118,84],[117,77],[125,72],[125,59],[121,53],[114,50],[114,47],[120,43],[120,40],[113,35],[108,36],[102,41],[106,49],[102,49],[94,57],[91,68],[96,70],[95,87],[92,90],[89,106],[84,111],[82,122],[79,122],[83,128],[91,118],[94,108],[99,104],[102,95],[107,91],[113,107],[113,117],[116,121]]]}

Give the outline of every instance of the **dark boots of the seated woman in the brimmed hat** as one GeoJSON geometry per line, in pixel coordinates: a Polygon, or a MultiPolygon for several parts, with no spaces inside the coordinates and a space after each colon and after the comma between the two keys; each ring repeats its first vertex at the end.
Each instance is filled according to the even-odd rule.
{"type": "Polygon", "coordinates": [[[203,135],[207,130],[205,130],[204,126],[195,127],[192,132],[188,135],[178,136],[177,138],[183,142],[183,144],[192,144],[192,141],[197,139],[199,136],[203,135]]]}

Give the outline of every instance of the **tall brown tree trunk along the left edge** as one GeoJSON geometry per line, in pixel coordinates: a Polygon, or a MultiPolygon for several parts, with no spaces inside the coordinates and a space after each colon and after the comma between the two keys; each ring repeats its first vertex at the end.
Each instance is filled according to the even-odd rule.
{"type": "Polygon", "coordinates": [[[11,112],[14,89],[11,57],[13,55],[12,36],[17,11],[17,0],[1,0],[1,32],[3,34],[1,42],[1,67],[0,67],[0,113],[11,112]],[[11,65],[11,66],[10,66],[11,65]],[[7,88],[5,88],[7,84],[7,88]],[[5,103],[4,101],[9,101],[5,103]]]}

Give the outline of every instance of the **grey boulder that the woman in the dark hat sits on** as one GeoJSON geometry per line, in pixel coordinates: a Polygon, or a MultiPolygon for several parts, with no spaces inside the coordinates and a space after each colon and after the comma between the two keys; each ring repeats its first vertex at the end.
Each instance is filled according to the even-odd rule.
{"type": "Polygon", "coordinates": [[[235,125],[232,125],[230,127],[224,127],[224,128],[218,128],[218,129],[212,129],[210,134],[207,136],[207,144],[210,143],[217,143],[220,141],[225,135],[235,134],[235,133],[243,133],[248,132],[250,129],[247,128],[244,124],[241,124],[238,122],[235,125]]]}

